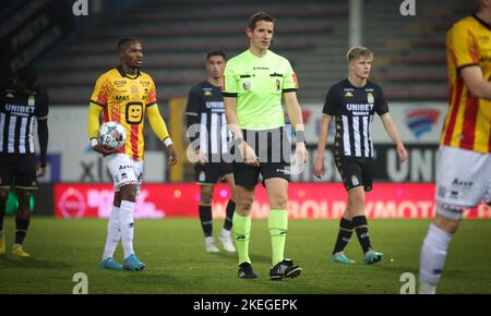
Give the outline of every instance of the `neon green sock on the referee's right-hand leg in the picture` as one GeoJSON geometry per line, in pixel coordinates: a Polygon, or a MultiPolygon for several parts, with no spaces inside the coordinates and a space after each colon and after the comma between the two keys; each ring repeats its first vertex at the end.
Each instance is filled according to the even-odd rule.
{"type": "Polygon", "coordinates": [[[272,247],[272,264],[285,259],[285,242],[288,229],[288,212],[285,209],[272,209],[270,218],[267,219],[267,227],[270,228],[271,247],[272,247]]]}

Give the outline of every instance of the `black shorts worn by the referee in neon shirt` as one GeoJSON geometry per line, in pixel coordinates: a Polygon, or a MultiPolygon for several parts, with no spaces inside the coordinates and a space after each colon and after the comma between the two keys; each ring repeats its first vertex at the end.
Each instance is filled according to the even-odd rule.
{"type": "MultiPolygon", "coordinates": [[[[290,181],[289,157],[291,143],[283,127],[265,131],[242,131],[243,139],[255,150],[260,166],[246,165],[237,159],[232,147],[233,180],[237,185],[253,187],[258,184],[260,174],[263,182],[271,178],[282,178],[290,181]]],[[[242,160],[243,161],[243,160],[242,160]]],[[[264,184],[264,183],[263,183],[264,184]]]]}

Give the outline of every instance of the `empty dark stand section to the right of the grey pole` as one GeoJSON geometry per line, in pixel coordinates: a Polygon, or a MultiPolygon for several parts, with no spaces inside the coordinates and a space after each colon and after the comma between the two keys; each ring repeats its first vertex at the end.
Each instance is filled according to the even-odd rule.
{"type": "Polygon", "coordinates": [[[402,16],[387,1],[367,1],[364,45],[388,100],[446,100],[445,34],[472,12],[463,0],[417,1],[417,15],[402,16]]]}

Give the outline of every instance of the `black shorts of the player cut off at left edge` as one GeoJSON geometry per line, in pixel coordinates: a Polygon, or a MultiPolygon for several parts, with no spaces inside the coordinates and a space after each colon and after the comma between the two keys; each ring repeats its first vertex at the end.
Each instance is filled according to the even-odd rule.
{"type": "Polygon", "coordinates": [[[0,154],[0,186],[36,190],[35,155],[0,154]]]}

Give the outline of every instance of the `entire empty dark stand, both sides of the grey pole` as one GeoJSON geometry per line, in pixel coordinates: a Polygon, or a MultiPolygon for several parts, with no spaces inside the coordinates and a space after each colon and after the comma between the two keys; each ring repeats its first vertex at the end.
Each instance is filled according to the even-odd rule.
{"type": "MultiPolygon", "coordinates": [[[[363,45],[375,52],[373,80],[392,101],[445,100],[445,32],[471,13],[464,0],[417,5],[416,16],[402,16],[397,1],[366,1],[363,45]]],[[[128,24],[125,14],[85,23],[76,40],[43,64],[44,84],[52,90],[53,104],[85,104],[91,83],[117,63],[118,38],[135,36],[144,44],[145,69],[159,98],[185,96],[205,75],[206,51],[223,49],[231,57],[247,47],[244,24],[259,10],[278,20],[272,49],[292,62],[301,84],[299,99],[322,102],[326,88],[347,74],[348,1],[142,0],[139,10],[128,13],[139,23],[128,24]]]]}

